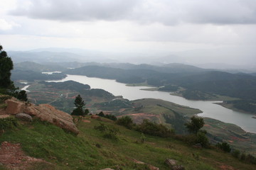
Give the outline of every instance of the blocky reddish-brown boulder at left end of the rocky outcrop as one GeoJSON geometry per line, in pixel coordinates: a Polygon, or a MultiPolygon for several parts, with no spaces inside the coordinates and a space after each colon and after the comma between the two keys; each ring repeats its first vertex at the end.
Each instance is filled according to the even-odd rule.
{"type": "Polygon", "coordinates": [[[17,113],[22,113],[25,108],[25,103],[18,101],[14,98],[6,100],[7,108],[6,114],[16,115],[17,113]]]}

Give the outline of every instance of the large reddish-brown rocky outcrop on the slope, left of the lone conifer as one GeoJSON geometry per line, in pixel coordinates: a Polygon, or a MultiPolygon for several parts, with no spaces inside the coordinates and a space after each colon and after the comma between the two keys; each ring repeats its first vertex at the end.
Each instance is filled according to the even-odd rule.
{"type": "Polygon", "coordinates": [[[53,123],[60,128],[78,134],[78,128],[73,123],[73,117],[68,113],[59,111],[48,104],[36,106],[33,103],[25,103],[18,101],[16,98],[6,100],[6,114],[16,115],[18,113],[26,113],[32,117],[40,118],[43,121],[53,123]]]}

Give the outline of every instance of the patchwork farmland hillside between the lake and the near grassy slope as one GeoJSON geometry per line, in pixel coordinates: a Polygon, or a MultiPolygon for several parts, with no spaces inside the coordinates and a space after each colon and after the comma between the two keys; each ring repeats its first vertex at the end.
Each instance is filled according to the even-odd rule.
{"type": "MultiPolygon", "coordinates": [[[[148,119],[151,122],[161,123],[174,128],[176,134],[186,134],[183,126],[191,116],[201,113],[200,110],[180,106],[169,101],[153,98],[144,98],[129,101],[121,96],[113,96],[102,89],[87,89],[89,86],[75,81],[33,83],[28,87],[28,98],[31,102],[48,103],[61,111],[71,113],[74,107],[75,96],[80,94],[84,99],[85,107],[90,113],[110,113],[117,117],[128,115],[135,123],[142,123],[148,119]]],[[[228,142],[235,149],[256,154],[256,136],[245,132],[236,125],[222,123],[218,120],[205,119],[210,141],[228,142]]]]}

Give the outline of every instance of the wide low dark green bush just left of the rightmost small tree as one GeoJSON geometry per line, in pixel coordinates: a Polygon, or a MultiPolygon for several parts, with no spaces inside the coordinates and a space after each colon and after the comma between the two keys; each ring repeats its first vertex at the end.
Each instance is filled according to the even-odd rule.
{"type": "Polygon", "coordinates": [[[170,130],[161,124],[151,123],[146,119],[143,120],[141,125],[137,126],[137,130],[147,135],[159,137],[171,137],[171,135],[174,135],[174,130],[170,130]]]}

